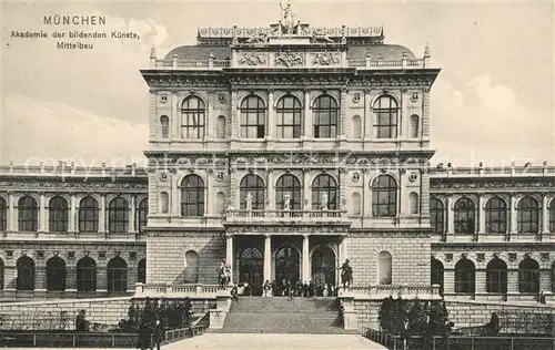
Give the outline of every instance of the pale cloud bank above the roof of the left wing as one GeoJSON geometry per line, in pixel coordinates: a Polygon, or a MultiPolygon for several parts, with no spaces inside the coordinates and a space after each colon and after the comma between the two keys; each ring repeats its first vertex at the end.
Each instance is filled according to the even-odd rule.
{"type": "MultiPolygon", "coordinates": [[[[144,162],[148,125],[23,95],[4,97],[4,153],[19,164],[125,165],[144,162]]],[[[9,159],[6,159],[9,161],[9,159]]]]}

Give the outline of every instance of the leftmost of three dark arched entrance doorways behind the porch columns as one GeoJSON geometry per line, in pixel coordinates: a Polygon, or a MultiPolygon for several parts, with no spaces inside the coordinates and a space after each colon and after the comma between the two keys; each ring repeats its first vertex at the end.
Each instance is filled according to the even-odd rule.
{"type": "Polygon", "coordinates": [[[262,295],[262,251],[255,247],[249,247],[241,250],[239,256],[239,282],[248,282],[249,290],[246,295],[262,295]]]}

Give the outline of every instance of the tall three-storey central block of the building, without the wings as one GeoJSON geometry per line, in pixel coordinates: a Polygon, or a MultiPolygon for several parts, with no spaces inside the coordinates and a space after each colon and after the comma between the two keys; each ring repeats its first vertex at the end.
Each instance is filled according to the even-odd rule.
{"type": "Polygon", "coordinates": [[[430,281],[430,51],[380,28],[199,29],[151,54],[149,284],[430,281]]]}

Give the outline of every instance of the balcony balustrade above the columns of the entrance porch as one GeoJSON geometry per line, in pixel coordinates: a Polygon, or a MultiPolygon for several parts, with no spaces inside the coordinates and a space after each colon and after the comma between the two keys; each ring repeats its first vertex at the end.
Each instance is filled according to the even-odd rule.
{"type": "MultiPolygon", "coordinates": [[[[249,220],[272,220],[272,219],[307,219],[311,222],[335,220],[344,217],[346,210],[246,210],[229,209],[225,219],[231,222],[249,220]]],[[[345,216],[346,217],[346,216],[345,216]]]]}

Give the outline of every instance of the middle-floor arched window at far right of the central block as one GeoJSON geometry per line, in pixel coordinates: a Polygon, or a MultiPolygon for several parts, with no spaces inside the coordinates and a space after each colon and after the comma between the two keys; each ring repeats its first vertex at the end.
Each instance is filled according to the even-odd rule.
{"type": "Polygon", "coordinates": [[[372,216],[392,217],[397,214],[397,184],[390,175],[380,175],[372,183],[372,216]]]}

